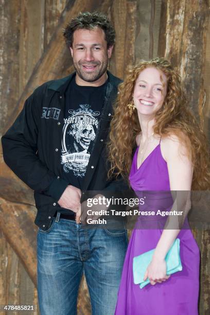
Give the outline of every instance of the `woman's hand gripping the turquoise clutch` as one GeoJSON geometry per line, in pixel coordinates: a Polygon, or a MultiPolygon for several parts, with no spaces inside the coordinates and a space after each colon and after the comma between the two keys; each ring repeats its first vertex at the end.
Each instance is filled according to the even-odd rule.
{"type": "Polygon", "coordinates": [[[162,283],[166,281],[170,275],[166,274],[166,261],[165,259],[152,258],[151,263],[145,272],[144,281],[148,278],[151,285],[157,282],[162,283]]]}

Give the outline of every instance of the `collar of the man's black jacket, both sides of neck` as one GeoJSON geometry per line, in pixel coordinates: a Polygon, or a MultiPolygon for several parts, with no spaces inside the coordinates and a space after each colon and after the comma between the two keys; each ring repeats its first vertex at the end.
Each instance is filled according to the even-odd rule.
{"type": "MultiPolygon", "coordinates": [[[[113,76],[111,72],[107,71],[109,82],[117,88],[118,84],[122,82],[119,78],[113,76]]],[[[64,77],[62,79],[53,80],[49,82],[48,89],[60,92],[63,94],[68,87],[68,84],[72,81],[76,72],[64,77]]]]}

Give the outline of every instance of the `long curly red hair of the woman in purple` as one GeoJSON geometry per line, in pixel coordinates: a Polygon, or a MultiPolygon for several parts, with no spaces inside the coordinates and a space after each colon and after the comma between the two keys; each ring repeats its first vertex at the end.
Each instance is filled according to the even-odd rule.
{"type": "Polygon", "coordinates": [[[172,64],[164,58],[142,60],[134,66],[126,80],[119,85],[114,116],[111,121],[109,176],[121,174],[128,179],[136,135],[141,132],[136,109],[130,117],[128,104],[133,99],[133,90],[139,73],[146,67],[160,69],[168,78],[167,95],[163,106],[155,115],[154,134],[161,137],[176,135],[185,145],[194,165],[192,189],[210,188],[209,149],[201,126],[191,111],[181,89],[181,77],[172,64]]]}

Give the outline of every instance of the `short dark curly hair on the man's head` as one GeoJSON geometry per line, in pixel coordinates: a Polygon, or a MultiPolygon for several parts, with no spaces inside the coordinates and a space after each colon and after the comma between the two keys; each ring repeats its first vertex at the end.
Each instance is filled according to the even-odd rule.
{"type": "Polygon", "coordinates": [[[108,17],[101,12],[80,12],[63,29],[63,36],[67,47],[72,47],[73,35],[77,29],[93,30],[100,27],[105,34],[107,48],[115,43],[115,30],[108,17]]]}

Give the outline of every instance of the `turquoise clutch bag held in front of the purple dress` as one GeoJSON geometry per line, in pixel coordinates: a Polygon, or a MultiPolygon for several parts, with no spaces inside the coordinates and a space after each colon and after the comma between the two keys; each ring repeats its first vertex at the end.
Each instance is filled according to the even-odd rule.
{"type": "MultiPolygon", "coordinates": [[[[144,275],[147,270],[148,265],[152,261],[152,256],[154,249],[148,251],[142,255],[133,257],[133,279],[134,284],[140,284],[140,289],[144,288],[149,284],[149,279],[144,281],[144,275]]],[[[172,274],[177,271],[182,270],[182,263],[180,259],[180,239],[176,238],[174,240],[170,250],[168,251],[166,257],[166,273],[172,274]]]]}

